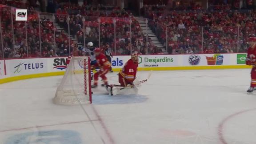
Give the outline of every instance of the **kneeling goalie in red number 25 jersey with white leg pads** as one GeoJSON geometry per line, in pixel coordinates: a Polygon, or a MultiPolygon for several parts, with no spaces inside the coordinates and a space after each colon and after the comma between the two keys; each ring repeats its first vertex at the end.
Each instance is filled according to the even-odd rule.
{"type": "Polygon", "coordinates": [[[108,86],[110,96],[132,95],[138,93],[139,83],[134,83],[138,70],[138,56],[138,52],[131,52],[131,59],[124,64],[124,67],[118,74],[120,85],[108,86]]]}

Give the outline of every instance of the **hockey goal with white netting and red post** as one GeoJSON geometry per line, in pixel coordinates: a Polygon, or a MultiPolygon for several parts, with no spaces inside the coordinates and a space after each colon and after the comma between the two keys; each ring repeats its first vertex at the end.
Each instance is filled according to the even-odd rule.
{"type": "Polygon", "coordinates": [[[53,102],[55,104],[92,103],[90,67],[89,57],[72,57],[53,102]]]}

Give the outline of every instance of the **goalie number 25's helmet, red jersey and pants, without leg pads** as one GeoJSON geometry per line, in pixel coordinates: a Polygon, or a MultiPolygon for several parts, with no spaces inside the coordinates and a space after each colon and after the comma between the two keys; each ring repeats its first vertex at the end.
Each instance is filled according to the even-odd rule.
{"type": "Polygon", "coordinates": [[[126,87],[128,84],[133,85],[132,82],[136,78],[138,70],[138,52],[131,52],[131,59],[124,64],[124,67],[119,72],[119,83],[121,86],[126,87]]]}

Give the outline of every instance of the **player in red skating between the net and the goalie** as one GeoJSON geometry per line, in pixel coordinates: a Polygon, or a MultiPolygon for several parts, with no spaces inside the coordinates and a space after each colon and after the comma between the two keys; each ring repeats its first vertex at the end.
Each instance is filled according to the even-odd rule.
{"type": "Polygon", "coordinates": [[[111,67],[111,64],[109,63],[107,57],[103,53],[100,53],[100,48],[95,48],[94,53],[96,56],[96,64],[92,65],[92,69],[98,67],[100,68],[100,70],[96,72],[93,76],[94,84],[92,85],[92,88],[96,88],[98,86],[99,76],[104,81],[104,84],[102,84],[102,86],[104,85],[108,86],[108,80],[107,80],[106,74],[108,73],[109,68],[111,67]]]}

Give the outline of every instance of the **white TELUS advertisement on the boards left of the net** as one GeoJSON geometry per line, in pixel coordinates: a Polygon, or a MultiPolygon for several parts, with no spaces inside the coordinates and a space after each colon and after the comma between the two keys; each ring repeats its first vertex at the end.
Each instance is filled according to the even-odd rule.
{"type": "Polygon", "coordinates": [[[17,59],[8,60],[10,76],[21,76],[47,72],[47,59],[17,59]]]}

